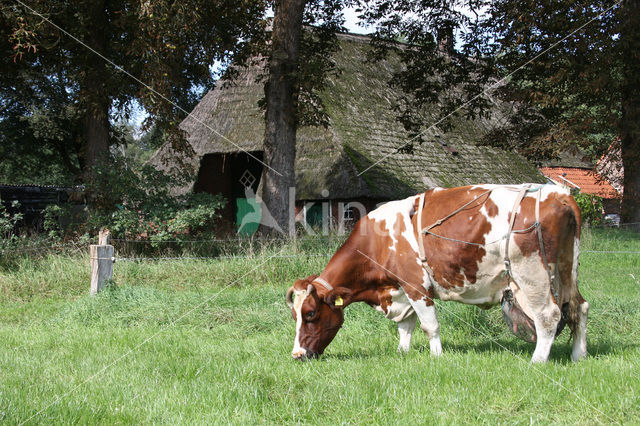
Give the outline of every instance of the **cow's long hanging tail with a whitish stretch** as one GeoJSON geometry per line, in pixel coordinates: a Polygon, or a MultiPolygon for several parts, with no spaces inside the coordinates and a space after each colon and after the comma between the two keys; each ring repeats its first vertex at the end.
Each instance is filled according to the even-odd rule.
{"type": "MultiPolygon", "coordinates": [[[[569,278],[569,282],[564,282],[563,284],[564,286],[567,286],[569,290],[569,309],[566,320],[569,328],[571,329],[571,337],[574,338],[580,319],[580,305],[584,302],[582,295],[578,291],[578,265],[580,263],[580,231],[582,228],[582,216],[580,214],[580,208],[572,197],[570,198],[569,207],[571,208],[571,214],[569,217],[567,231],[570,234],[569,237],[572,235],[573,238],[567,238],[565,240],[566,244],[569,246],[567,248],[570,252],[567,253],[566,257],[563,257],[569,261],[567,263],[570,264],[571,268],[570,275],[567,274],[569,275],[569,277],[567,277],[569,278]]],[[[568,266],[569,265],[566,265],[565,267],[568,266]]],[[[564,277],[566,277],[566,275],[563,274],[563,278],[564,277]]]]}

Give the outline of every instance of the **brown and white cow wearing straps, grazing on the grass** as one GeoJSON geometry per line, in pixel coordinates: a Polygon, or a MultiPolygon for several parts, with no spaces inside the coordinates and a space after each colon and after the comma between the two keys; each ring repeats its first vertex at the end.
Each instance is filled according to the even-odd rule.
{"type": "Polygon", "coordinates": [[[419,319],[439,356],[440,299],[502,303],[512,331],[536,343],[531,362],[547,361],[567,324],[578,361],[587,353],[589,310],[578,291],[580,228],[573,197],[551,184],[435,188],[388,202],[356,223],[320,275],[287,291],[292,356],[321,355],[355,302],[397,323],[400,352],[409,351],[419,319]]]}

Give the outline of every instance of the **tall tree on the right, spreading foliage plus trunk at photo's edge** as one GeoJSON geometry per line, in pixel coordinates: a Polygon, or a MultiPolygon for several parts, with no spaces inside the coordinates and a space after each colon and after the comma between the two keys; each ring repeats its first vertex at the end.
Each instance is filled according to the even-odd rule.
{"type": "Polygon", "coordinates": [[[640,222],[638,0],[361,0],[360,7],[376,25],[378,52],[406,43],[406,68],[392,84],[405,93],[399,117],[407,129],[419,135],[425,124],[446,126],[452,113],[511,107],[507,125],[484,143],[538,162],[577,148],[595,160],[619,136],[622,220],[640,222]],[[456,46],[443,49],[447,40],[456,46]],[[439,119],[427,121],[421,109],[434,103],[439,119]]]}

